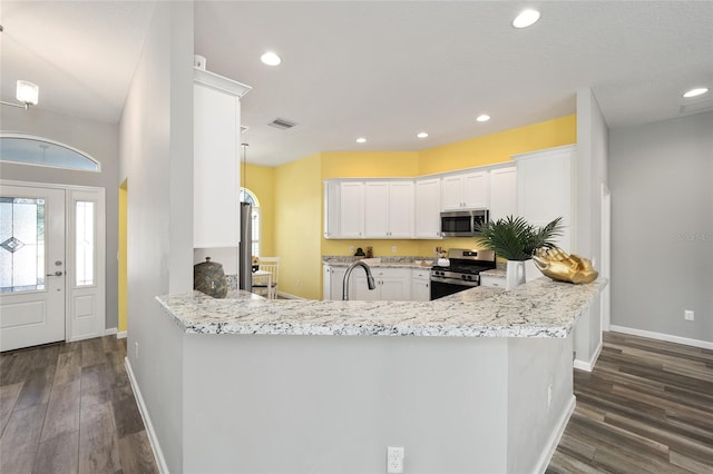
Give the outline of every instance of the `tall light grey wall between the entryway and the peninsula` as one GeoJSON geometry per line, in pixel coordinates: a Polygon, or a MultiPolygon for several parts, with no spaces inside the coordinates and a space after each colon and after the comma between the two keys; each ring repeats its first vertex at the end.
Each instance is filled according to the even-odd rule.
{"type": "Polygon", "coordinates": [[[183,347],[157,295],[193,289],[193,3],[158,2],[120,121],[128,179],[128,358],[170,472],[183,472],[183,347]],[[136,347],[138,346],[138,353],[136,347]]]}

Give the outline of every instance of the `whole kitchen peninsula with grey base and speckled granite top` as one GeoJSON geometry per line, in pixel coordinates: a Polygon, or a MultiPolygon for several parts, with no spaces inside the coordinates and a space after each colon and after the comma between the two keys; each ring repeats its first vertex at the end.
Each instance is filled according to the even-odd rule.
{"type": "Polygon", "coordinates": [[[164,368],[184,387],[183,471],[383,473],[387,446],[403,446],[408,473],[541,472],[574,408],[572,328],[605,285],[159,297],[180,354],[164,368]]]}

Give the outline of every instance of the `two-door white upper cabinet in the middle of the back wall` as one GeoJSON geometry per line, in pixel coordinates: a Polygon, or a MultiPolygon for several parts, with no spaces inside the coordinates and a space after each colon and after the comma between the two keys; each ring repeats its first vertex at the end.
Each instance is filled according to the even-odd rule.
{"type": "Polygon", "coordinates": [[[364,237],[413,237],[413,181],[364,184],[364,237]]]}

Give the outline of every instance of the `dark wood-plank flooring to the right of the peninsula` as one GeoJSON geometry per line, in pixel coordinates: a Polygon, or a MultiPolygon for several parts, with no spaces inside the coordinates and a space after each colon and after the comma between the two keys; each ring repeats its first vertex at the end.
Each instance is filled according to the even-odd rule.
{"type": "Polygon", "coordinates": [[[604,333],[547,473],[713,474],[713,350],[604,333]]]}

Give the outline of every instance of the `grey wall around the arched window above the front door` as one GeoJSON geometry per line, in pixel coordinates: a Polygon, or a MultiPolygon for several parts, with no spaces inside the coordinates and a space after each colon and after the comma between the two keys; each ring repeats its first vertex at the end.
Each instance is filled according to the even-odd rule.
{"type": "Polygon", "coordinates": [[[2,179],[94,186],[106,189],[106,328],[118,322],[118,168],[119,127],[79,119],[40,106],[29,111],[0,107],[2,131],[30,134],[77,148],[101,164],[101,172],[72,171],[27,165],[0,164],[2,179]]]}

